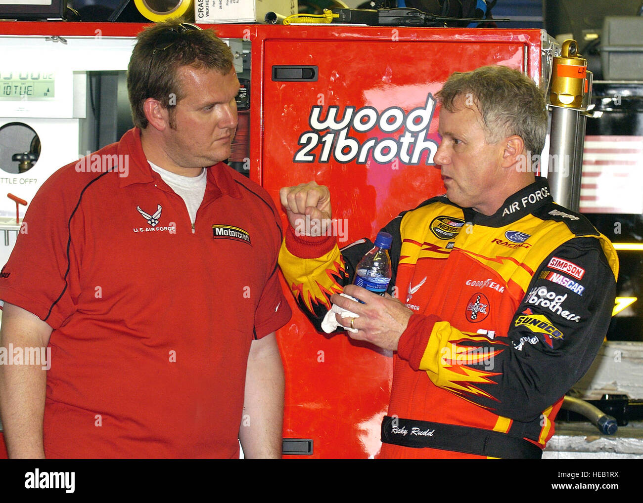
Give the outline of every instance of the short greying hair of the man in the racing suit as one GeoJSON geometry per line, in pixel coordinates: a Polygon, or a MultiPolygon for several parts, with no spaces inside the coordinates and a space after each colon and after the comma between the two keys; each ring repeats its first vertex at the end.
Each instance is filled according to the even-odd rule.
{"type": "Polygon", "coordinates": [[[458,98],[469,98],[478,108],[487,143],[516,134],[532,154],[540,154],[547,136],[545,95],[529,77],[505,66],[483,66],[453,73],[436,97],[442,107],[455,111],[458,98]]]}

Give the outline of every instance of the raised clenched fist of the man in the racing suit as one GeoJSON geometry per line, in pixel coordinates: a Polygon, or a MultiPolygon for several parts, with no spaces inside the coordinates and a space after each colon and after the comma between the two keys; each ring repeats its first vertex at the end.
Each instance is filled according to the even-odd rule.
{"type": "Polygon", "coordinates": [[[282,187],[279,198],[294,229],[305,229],[303,234],[307,236],[325,235],[332,216],[331,192],[327,186],[311,181],[296,187],[282,187]]]}

